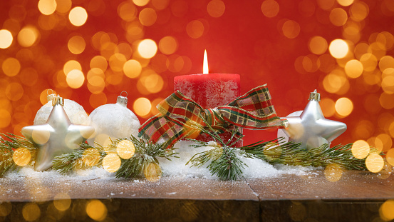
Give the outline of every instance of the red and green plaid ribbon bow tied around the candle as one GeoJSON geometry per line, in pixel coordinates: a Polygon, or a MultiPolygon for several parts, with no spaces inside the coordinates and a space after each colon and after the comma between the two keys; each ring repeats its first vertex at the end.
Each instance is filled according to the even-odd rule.
{"type": "Polygon", "coordinates": [[[157,109],[160,113],[140,126],[138,136],[153,142],[163,138],[167,148],[184,137],[199,133],[199,128],[206,128],[207,124],[223,133],[234,130],[235,126],[251,129],[284,128],[286,121],[276,116],[266,84],[214,109],[203,109],[176,91],[160,102],[157,109]]]}

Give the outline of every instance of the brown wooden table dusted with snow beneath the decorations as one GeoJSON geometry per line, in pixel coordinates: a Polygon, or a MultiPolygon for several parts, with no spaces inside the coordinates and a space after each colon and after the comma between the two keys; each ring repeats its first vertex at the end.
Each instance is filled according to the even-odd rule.
{"type": "Polygon", "coordinates": [[[313,171],[234,182],[0,178],[0,188],[0,216],[6,221],[24,221],[30,202],[40,209],[41,221],[93,221],[85,211],[92,199],[105,204],[105,221],[373,221],[381,204],[394,199],[393,176],[381,179],[355,171],[343,173],[336,182],[313,171]],[[59,193],[66,193],[66,198],[60,196],[70,204],[66,211],[53,207],[59,193]],[[10,206],[11,212],[4,213],[10,206]]]}

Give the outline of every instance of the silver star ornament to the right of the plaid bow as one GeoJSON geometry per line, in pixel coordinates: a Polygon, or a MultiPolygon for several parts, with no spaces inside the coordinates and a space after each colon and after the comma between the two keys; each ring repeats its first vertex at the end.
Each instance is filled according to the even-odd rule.
{"type": "Polygon", "coordinates": [[[286,117],[288,125],[278,131],[278,137],[288,137],[289,141],[301,143],[300,148],[303,150],[316,148],[324,143],[329,146],[347,127],[345,123],[324,118],[319,101],[320,94],[315,90],[309,95],[309,103],[304,111],[297,111],[286,117]]]}

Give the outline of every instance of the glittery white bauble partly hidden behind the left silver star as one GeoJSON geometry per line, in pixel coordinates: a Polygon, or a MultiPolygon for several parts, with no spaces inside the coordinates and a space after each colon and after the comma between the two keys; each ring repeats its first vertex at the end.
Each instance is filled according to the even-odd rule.
{"type": "MultiPolygon", "coordinates": [[[[71,123],[73,124],[86,124],[88,120],[88,114],[85,112],[83,107],[76,103],[76,101],[72,101],[70,99],[64,99],[64,111],[68,118],[70,118],[71,123]]],[[[36,117],[34,117],[33,125],[42,125],[45,124],[48,120],[49,114],[53,109],[52,101],[48,101],[45,105],[41,107],[36,113],[36,117]]]]}

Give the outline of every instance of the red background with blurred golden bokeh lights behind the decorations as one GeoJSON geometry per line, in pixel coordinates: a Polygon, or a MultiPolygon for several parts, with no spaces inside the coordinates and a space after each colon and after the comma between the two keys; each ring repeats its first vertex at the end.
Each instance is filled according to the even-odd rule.
{"type": "MultiPolygon", "coordinates": [[[[173,78],[237,73],[242,93],[269,84],[279,116],[314,89],[334,142],[389,151],[394,137],[393,1],[11,0],[0,3],[0,131],[21,135],[48,89],[90,113],[128,91],[144,122],[173,78]]],[[[245,131],[245,142],[276,136],[245,131]]],[[[389,152],[393,153],[393,152],[389,152]]],[[[390,156],[389,156],[390,157],[390,156]]]]}

